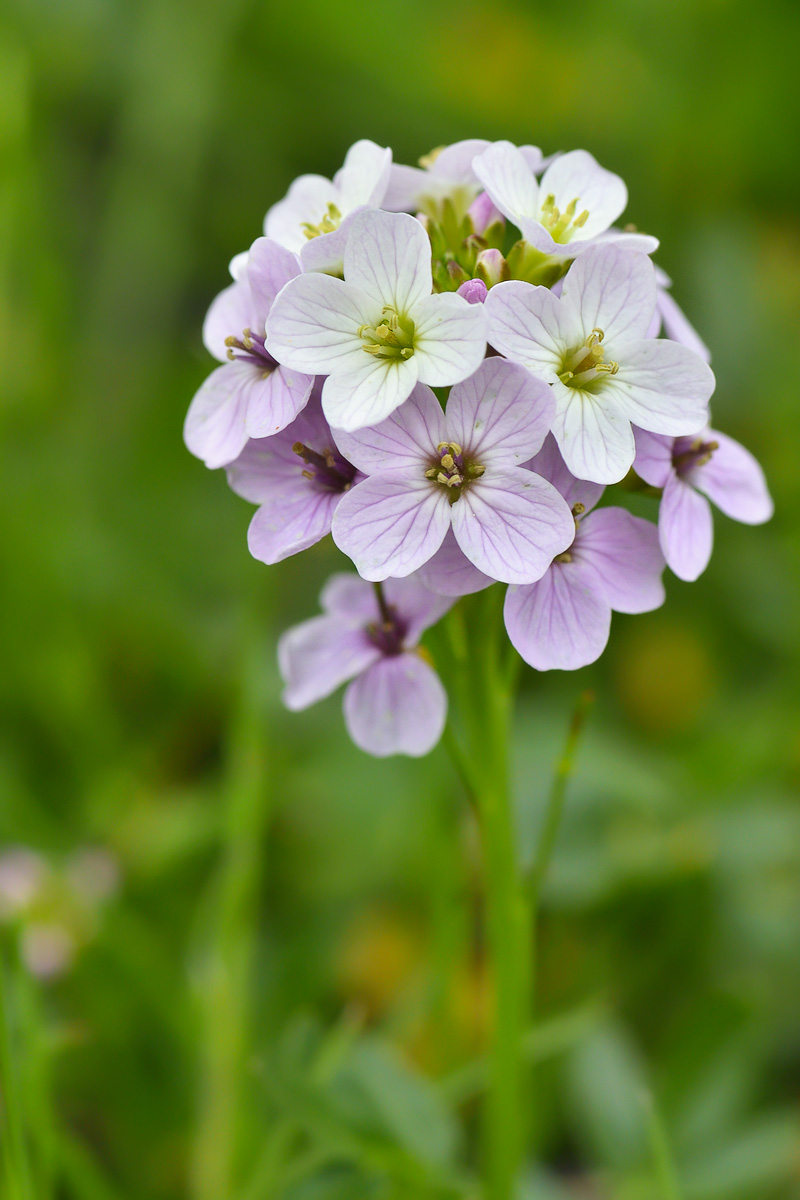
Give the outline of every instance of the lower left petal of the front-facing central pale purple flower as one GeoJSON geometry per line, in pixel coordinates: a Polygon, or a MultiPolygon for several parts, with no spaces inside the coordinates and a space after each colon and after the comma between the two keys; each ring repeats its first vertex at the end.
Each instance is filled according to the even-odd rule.
{"type": "Polygon", "coordinates": [[[342,497],[331,533],[365,580],[410,575],[435,554],[450,526],[441,487],[408,472],[385,472],[342,497]]]}

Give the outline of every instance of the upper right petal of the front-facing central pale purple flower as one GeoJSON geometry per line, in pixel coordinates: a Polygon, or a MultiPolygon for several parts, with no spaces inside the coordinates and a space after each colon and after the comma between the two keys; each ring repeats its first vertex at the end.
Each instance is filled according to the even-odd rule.
{"type": "Polygon", "coordinates": [[[555,416],[551,388],[506,359],[483,359],[447,401],[447,439],[470,458],[519,467],[540,449],[555,416]]]}

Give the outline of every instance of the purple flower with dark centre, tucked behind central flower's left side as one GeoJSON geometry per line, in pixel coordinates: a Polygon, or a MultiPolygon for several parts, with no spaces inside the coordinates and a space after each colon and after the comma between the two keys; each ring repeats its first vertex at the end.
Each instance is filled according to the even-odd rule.
{"type": "Polygon", "coordinates": [[[281,433],[248,442],[228,466],[228,482],[260,505],[247,530],[253,558],[271,565],[320,541],[361,478],[337,449],[318,395],[281,433]]]}

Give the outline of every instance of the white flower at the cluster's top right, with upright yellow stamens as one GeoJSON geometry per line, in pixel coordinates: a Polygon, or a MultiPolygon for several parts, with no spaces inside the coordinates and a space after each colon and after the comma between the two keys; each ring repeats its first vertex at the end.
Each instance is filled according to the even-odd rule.
{"type": "Polygon", "coordinates": [[[646,234],[609,228],[627,204],[627,188],[587,150],[559,155],[537,181],[536,167],[517,146],[495,142],[473,169],[500,212],[545,254],[575,258],[597,241],[648,254],[658,246],[646,234]]]}

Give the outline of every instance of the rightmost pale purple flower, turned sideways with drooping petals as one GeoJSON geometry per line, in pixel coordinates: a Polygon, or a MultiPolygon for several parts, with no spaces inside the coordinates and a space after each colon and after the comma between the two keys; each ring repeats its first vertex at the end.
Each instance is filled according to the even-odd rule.
{"type": "Polygon", "coordinates": [[[664,438],[636,430],[636,450],[637,474],[663,488],[658,539],[667,565],[681,580],[696,580],[709,565],[714,545],[709,499],[745,524],[763,524],[772,516],[764,472],[724,433],[706,428],[697,437],[664,438]]]}

